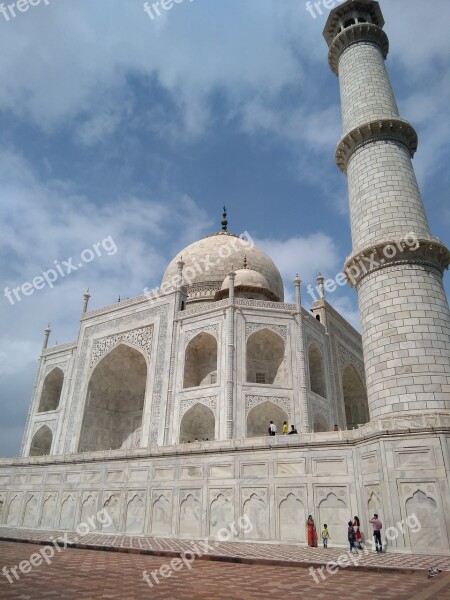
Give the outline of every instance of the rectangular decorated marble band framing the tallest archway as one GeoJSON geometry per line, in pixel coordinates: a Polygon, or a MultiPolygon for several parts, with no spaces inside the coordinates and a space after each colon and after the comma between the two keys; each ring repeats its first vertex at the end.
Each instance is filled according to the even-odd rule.
{"type": "MultiPolygon", "coordinates": [[[[111,308],[117,308],[117,305],[113,305],[111,308]]],[[[101,311],[104,312],[104,309],[101,311]]],[[[92,315],[93,313],[89,313],[92,315]]],[[[100,314],[100,313],[99,313],[100,314]]],[[[72,444],[74,442],[78,443],[77,435],[79,432],[74,432],[76,417],[80,413],[80,406],[84,401],[84,384],[86,379],[88,378],[89,371],[89,346],[94,338],[94,343],[96,340],[95,336],[99,333],[110,329],[111,327],[122,327],[127,323],[137,324],[139,322],[147,322],[148,320],[153,318],[157,319],[159,317],[159,334],[158,334],[158,342],[157,349],[155,352],[156,356],[156,365],[154,369],[154,383],[153,383],[153,397],[151,401],[151,415],[150,415],[150,435],[149,435],[149,444],[155,445],[158,441],[159,431],[160,431],[160,417],[161,417],[161,398],[162,398],[162,387],[163,387],[163,379],[164,379],[164,362],[165,362],[165,348],[167,341],[167,331],[168,331],[168,315],[169,315],[169,304],[164,304],[162,306],[157,306],[155,308],[151,308],[149,310],[144,310],[140,313],[134,313],[131,315],[127,315],[126,317],[118,317],[111,321],[107,321],[104,323],[99,323],[98,325],[93,325],[89,327],[84,335],[84,339],[80,349],[80,360],[78,364],[78,369],[76,373],[76,379],[74,384],[73,391],[73,400],[72,406],[70,410],[70,415],[68,418],[68,426],[67,433],[65,439],[64,452],[71,452],[72,444]]],[[[148,327],[154,327],[146,325],[140,329],[146,329],[148,327]]],[[[133,331],[139,331],[133,330],[133,331]]],[[[130,332],[129,332],[130,333],[130,332]]],[[[114,337],[114,336],[112,336],[114,337]]],[[[104,338],[106,339],[106,338],[104,338]]],[[[153,374],[152,374],[153,375],[153,374]]]]}

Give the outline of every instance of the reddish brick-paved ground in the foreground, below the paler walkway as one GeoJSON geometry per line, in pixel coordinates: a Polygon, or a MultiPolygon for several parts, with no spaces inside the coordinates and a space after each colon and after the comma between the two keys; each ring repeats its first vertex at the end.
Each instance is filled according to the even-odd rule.
{"type": "MultiPolygon", "coordinates": [[[[34,544],[0,542],[0,568],[11,567],[39,550],[34,544]]],[[[50,560],[50,559],[49,559],[50,560]]],[[[9,584],[0,577],[2,600],[448,600],[450,573],[427,579],[424,571],[405,574],[340,570],[316,584],[308,568],[195,561],[152,589],[143,571],[166,565],[167,557],[67,549],[50,565],[37,566],[9,584]]]]}

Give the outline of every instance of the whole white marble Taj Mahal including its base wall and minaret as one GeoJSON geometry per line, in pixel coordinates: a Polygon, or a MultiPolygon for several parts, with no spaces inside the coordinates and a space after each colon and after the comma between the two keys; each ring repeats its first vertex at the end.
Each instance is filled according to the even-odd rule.
{"type": "Polygon", "coordinates": [[[378,2],[348,0],[324,29],[362,335],[320,276],[312,306],[295,273],[285,303],[277,266],[224,212],[158,293],[98,310],[86,293],[76,340],[49,347],[45,330],[21,456],[0,460],[0,531],[72,531],[106,508],[108,533],[213,537],[247,515],[236,539],[306,544],[311,514],[345,545],[348,519],[370,537],[376,512],[420,521],[390,550],[450,554],[450,253],[429,229],[383,27],[378,2]]]}

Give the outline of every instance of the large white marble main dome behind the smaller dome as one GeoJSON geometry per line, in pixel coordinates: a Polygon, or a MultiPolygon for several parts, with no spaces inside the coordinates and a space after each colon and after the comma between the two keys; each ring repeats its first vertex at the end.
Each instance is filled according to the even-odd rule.
{"type": "Polygon", "coordinates": [[[184,281],[188,301],[211,301],[234,269],[241,269],[247,258],[248,267],[264,276],[269,290],[278,301],[284,300],[283,282],[272,259],[252,242],[222,231],[194,242],[181,250],[164,273],[162,284],[176,281],[178,262],[183,260],[184,281]]]}

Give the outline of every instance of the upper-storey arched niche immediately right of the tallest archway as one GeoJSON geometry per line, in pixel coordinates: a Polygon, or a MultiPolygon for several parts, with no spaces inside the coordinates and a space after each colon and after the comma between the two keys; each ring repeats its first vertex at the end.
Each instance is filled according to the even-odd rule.
{"type": "Polygon", "coordinates": [[[183,388],[213,385],[216,382],[217,340],[210,333],[202,332],[186,347],[183,388]]]}

